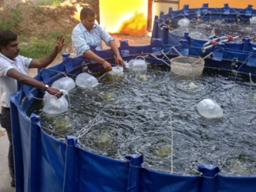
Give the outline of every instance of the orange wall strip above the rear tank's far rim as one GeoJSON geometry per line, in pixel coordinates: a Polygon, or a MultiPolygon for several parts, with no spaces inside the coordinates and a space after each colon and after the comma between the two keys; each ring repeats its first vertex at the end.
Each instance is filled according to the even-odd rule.
{"type": "Polygon", "coordinates": [[[183,9],[184,5],[190,5],[190,8],[201,7],[203,3],[209,3],[209,7],[224,7],[224,3],[228,3],[229,7],[234,8],[247,8],[248,5],[254,5],[256,9],[255,0],[179,0],[179,9],[183,9]]]}

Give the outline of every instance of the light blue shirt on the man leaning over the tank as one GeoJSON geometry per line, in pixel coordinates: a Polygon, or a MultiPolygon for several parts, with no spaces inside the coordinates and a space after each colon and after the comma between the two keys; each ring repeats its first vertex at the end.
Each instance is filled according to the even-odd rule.
{"type": "Polygon", "coordinates": [[[73,28],[71,35],[72,47],[75,56],[83,55],[85,51],[90,49],[90,45],[96,45],[96,50],[103,50],[101,40],[103,40],[107,46],[109,41],[115,40],[100,26],[100,24],[94,24],[92,30],[89,32],[85,26],[81,23],[77,24],[73,28]]]}

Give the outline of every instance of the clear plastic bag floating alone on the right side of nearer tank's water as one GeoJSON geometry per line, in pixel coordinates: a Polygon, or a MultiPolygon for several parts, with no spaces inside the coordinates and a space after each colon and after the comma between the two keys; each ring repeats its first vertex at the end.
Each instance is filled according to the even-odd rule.
{"type": "Polygon", "coordinates": [[[198,113],[208,119],[223,117],[222,108],[214,100],[201,100],[197,105],[198,113]]]}

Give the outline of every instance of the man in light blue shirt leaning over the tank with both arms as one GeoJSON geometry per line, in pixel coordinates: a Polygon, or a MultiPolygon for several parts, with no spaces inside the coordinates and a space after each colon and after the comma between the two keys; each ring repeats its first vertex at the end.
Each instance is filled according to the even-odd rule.
{"type": "Polygon", "coordinates": [[[81,9],[80,23],[73,28],[71,35],[72,47],[75,56],[83,55],[84,57],[91,59],[92,61],[102,64],[105,71],[111,71],[111,64],[105,61],[104,58],[100,58],[98,55],[90,50],[90,45],[96,45],[96,50],[103,50],[101,40],[103,40],[107,46],[111,47],[115,52],[116,62],[119,66],[123,66],[122,57],[119,53],[119,49],[115,44],[115,39],[112,38],[100,24],[95,23],[94,10],[85,7],[81,9]]]}

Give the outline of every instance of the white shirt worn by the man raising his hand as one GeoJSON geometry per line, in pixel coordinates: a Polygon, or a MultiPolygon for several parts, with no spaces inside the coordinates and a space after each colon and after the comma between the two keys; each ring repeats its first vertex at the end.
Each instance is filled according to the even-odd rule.
{"type": "Polygon", "coordinates": [[[11,69],[15,69],[23,74],[28,74],[28,68],[32,62],[32,58],[25,58],[18,55],[15,61],[6,58],[0,53],[0,96],[2,107],[10,107],[9,96],[17,92],[17,80],[7,77],[7,73],[11,69]]]}

